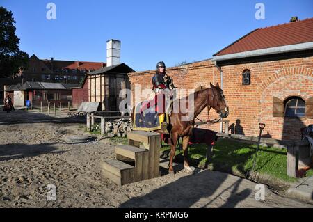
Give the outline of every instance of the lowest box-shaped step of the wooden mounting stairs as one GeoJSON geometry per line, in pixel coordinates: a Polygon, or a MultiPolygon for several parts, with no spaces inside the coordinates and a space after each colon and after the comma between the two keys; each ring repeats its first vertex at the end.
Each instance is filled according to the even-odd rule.
{"type": "Polygon", "coordinates": [[[135,167],[117,159],[102,159],[102,175],[119,185],[134,182],[135,167]]]}

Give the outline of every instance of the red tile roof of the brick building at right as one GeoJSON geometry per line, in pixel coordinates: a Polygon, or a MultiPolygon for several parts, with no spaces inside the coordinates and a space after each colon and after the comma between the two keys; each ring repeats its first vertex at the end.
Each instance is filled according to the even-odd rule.
{"type": "Polygon", "coordinates": [[[214,56],[313,42],[313,18],[255,29],[214,56]]]}

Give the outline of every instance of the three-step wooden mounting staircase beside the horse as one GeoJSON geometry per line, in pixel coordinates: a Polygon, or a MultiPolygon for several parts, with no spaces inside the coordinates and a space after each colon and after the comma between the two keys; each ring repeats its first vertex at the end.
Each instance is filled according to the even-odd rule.
{"type": "Polygon", "coordinates": [[[161,134],[131,131],[128,145],[117,145],[116,159],[103,159],[102,175],[119,185],[160,176],[161,134]]]}

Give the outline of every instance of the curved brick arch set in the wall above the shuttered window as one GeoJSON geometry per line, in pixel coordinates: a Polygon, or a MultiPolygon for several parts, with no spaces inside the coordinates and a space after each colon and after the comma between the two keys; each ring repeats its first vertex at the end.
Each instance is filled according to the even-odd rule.
{"type": "Polygon", "coordinates": [[[257,87],[257,92],[259,95],[262,95],[262,92],[273,82],[275,82],[277,79],[280,79],[281,77],[286,76],[292,76],[295,74],[301,74],[307,77],[313,77],[313,70],[311,68],[305,68],[305,67],[291,67],[291,68],[282,68],[278,71],[276,71],[274,74],[272,74],[270,77],[262,81],[261,84],[257,87]]]}

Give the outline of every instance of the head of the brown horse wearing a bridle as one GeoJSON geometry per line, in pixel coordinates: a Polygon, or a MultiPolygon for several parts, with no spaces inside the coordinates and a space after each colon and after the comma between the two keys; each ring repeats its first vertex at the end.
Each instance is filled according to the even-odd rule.
{"type": "Polygon", "coordinates": [[[228,106],[223,94],[223,90],[220,88],[218,83],[213,86],[210,83],[212,95],[209,98],[209,105],[220,114],[220,118],[226,118],[228,116],[228,106]]]}

